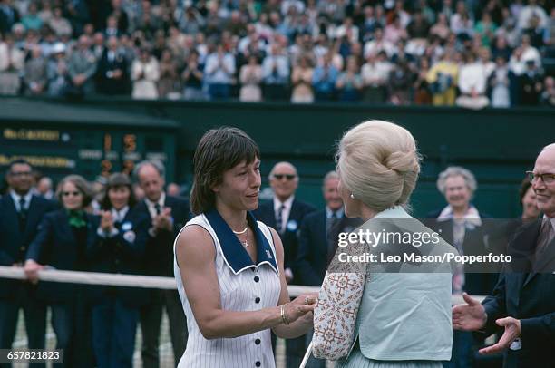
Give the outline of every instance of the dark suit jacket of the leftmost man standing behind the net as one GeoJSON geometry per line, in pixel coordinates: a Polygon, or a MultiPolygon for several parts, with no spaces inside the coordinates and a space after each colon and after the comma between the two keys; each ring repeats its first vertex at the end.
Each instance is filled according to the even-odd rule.
{"type": "MultiPolygon", "coordinates": [[[[27,210],[27,224],[22,233],[19,230],[14,199],[9,194],[0,199],[0,265],[24,263],[27,248],[33,241],[44,214],[55,208],[55,202],[32,196],[27,210]]],[[[0,279],[0,297],[12,297],[15,295],[15,288],[22,285],[21,281],[0,279]]]]}

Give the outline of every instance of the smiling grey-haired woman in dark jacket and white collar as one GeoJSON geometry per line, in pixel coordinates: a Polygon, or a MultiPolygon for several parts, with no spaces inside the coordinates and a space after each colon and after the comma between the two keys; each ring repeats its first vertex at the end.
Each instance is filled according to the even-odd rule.
{"type": "MultiPolygon", "coordinates": [[[[455,247],[461,255],[484,254],[486,246],[482,218],[488,216],[472,205],[472,197],[478,188],[472,172],[451,166],[440,173],[437,188],[445,196],[447,206],[428,214],[428,218],[435,218],[430,223],[430,228],[455,247]]],[[[453,294],[461,294],[463,291],[472,295],[488,294],[495,285],[495,274],[477,272],[476,266],[459,266],[453,273],[453,294]]],[[[452,358],[450,362],[443,363],[443,366],[472,366],[472,343],[472,334],[453,332],[452,358]]]]}

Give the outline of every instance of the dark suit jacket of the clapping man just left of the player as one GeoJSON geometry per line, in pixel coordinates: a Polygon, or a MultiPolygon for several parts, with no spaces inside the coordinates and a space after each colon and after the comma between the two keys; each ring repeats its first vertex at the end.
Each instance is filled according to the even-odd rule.
{"type": "MultiPolygon", "coordinates": [[[[159,230],[155,237],[149,235],[142,268],[147,275],[173,277],[173,241],[180,232],[180,229],[190,219],[189,200],[166,195],[164,207],[171,208],[173,229],[172,231],[159,230]]],[[[151,228],[152,218],[146,202],[141,200],[135,209],[139,213],[146,215],[148,218],[148,228],[151,228]]]]}

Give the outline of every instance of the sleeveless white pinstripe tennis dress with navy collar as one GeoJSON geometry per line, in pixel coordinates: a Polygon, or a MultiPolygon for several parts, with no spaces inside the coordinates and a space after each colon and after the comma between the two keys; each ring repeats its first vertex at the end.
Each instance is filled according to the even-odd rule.
{"type": "MultiPolygon", "coordinates": [[[[214,264],[222,309],[256,311],[277,305],[281,285],[276,250],[268,226],[248,213],[249,228],[257,239],[258,259],[255,264],[218,211],[211,210],[192,218],[185,228],[191,225],[205,228],[214,241],[214,264]]],[[[175,243],[173,247],[175,254],[175,243]]],[[[275,367],[269,329],[234,338],[205,339],[183,289],[176,257],[173,257],[173,265],[189,330],[187,348],[178,368],[275,367]]]]}

